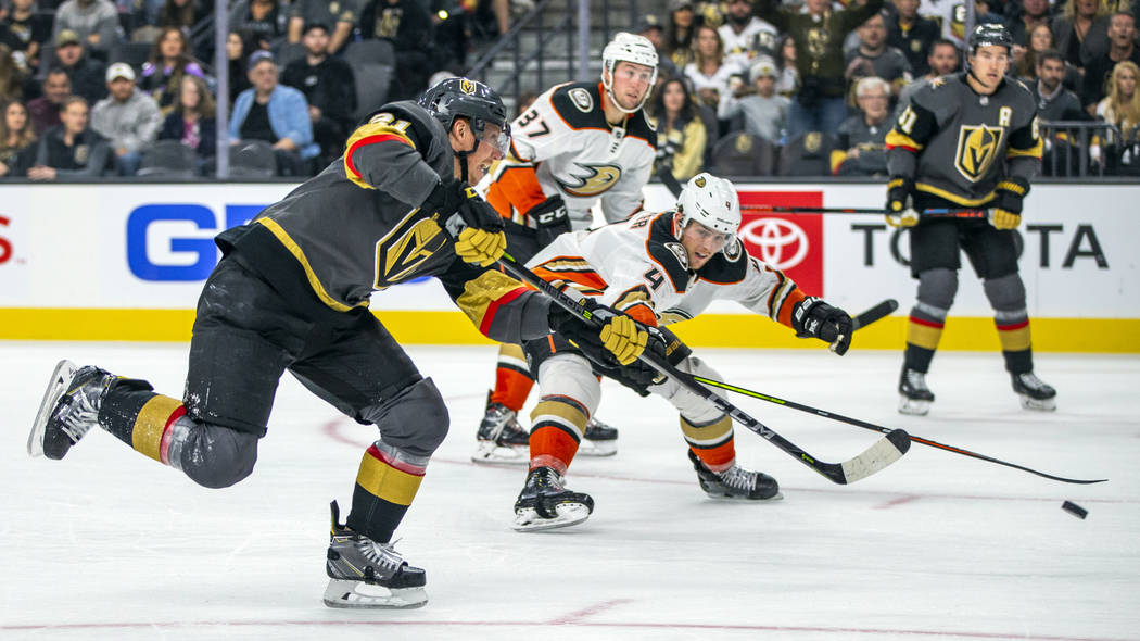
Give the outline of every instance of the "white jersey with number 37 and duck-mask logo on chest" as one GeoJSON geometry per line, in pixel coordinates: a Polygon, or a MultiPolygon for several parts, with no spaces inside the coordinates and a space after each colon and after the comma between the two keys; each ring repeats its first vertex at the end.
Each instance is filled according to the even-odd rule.
{"type": "Polygon", "coordinates": [[[575,229],[593,224],[601,200],[609,222],[642,205],[657,154],[657,131],[638,111],[610,127],[600,82],[553,87],[511,123],[511,153],[490,175],[487,202],[500,216],[534,227],[526,212],[548,196],[565,202],[575,229]]]}

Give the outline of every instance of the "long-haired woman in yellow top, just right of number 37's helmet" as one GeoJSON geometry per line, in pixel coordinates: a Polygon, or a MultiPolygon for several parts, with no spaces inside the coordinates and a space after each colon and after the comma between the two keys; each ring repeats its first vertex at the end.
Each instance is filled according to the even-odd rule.
{"type": "Polygon", "coordinates": [[[668,171],[682,182],[700,173],[709,138],[685,81],[666,80],[646,111],[657,121],[654,172],[668,171]]]}

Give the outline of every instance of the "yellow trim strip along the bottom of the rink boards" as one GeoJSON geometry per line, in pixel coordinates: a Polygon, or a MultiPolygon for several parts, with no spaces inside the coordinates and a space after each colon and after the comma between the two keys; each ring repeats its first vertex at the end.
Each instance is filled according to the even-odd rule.
{"type": "MultiPolygon", "coordinates": [[[[905,306],[905,303],[904,303],[905,306]]],[[[495,344],[461,311],[373,311],[405,344],[495,344]]],[[[1037,352],[1140,354],[1140,318],[1032,317],[1037,352]]],[[[0,340],[187,342],[193,309],[0,308],[0,340]]],[[[855,349],[903,349],[905,315],[896,314],[855,334],[855,349]]],[[[757,315],[702,314],[669,326],[692,347],[821,349],[813,339],[757,315]]],[[[996,351],[992,316],[951,317],[938,348],[996,351]]]]}

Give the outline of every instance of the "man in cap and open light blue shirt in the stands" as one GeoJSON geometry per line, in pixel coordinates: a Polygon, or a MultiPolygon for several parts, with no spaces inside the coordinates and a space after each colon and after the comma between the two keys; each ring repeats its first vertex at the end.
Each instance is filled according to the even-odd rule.
{"type": "Polygon", "coordinates": [[[279,176],[307,176],[308,162],[320,153],[312,139],[312,124],[304,94],[277,83],[277,63],[269,51],[250,56],[250,83],[234,102],[229,138],[266,140],[274,146],[279,176]]]}

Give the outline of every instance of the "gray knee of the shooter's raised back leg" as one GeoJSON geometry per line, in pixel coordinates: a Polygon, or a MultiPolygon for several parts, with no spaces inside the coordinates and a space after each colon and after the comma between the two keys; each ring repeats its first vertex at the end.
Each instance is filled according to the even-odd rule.
{"type": "Polygon", "coordinates": [[[250,476],[256,462],[256,435],[209,423],[190,430],[179,454],[186,476],[212,489],[237,484],[250,476]]]}

